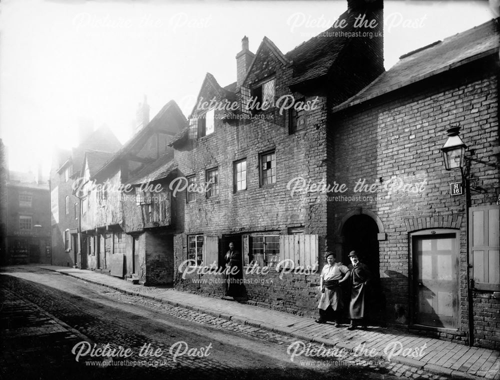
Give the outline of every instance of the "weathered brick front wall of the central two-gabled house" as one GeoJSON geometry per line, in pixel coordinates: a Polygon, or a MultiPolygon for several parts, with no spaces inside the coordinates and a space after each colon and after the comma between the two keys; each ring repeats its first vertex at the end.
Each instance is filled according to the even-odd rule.
{"type": "MultiPolygon", "coordinates": [[[[284,85],[291,76],[291,69],[283,66],[267,48],[256,59],[253,64],[255,72],[247,77],[247,83],[274,74],[276,98],[292,93],[284,85]]],[[[202,94],[205,99],[215,95],[209,88],[203,89],[202,94]]],[[[300,94],[295,95],[298,98],[300,94]]],[[[313,98],[305,97],[306,100],[313,98]]],[[[325,179],[326,151],[323,141],[326,136],[326,99],[319,97],[317,109],[306,112],[306,128],[294,134],[288,131],[287,112],[280,115],[275,109],[260,114],[269,119],[253,119],[251,122],[229,125],[216,118],[214,133],[176,147],[178,176],[194,174],[198,183],[204,182],[205,170],[217,167],[219,182],[219,193],[212,198],[196,194],[196,200],[186,204],[185,192],[175,195],[175,226],[179,233],[174,241],[174,271],[178,289],[210,296],[223,295],[220,279],[211,284],[199,285],[189,277],[185,280],[180,278],[177,267],[187,259],[188,235],[218,236],[220,241],[225,234],[287,234],[288,228],[303,227],[304,233],[319,236],[319,252],[324,252],[325,205],[318,204],[313,194],[290,197],[286,185],[294,177],[304,177],[314,182],[325,179]],[[275,151],[276,182],[260,186],[259,154],[269,150],[275,151]],[[242,158],[247,160],[247,189],[234,193],[233,162],[242,158]]],[[[221,242],[219,251],[220,255],[227,251],[221,242]]],[[[244,275],[244,278],[252,280],[253,276],[244,275]]],[[[316,307],[314,297],[310,297],[307,292],[296,292],[296,287],[309,289],[311,279],[307,277],[310,276],[288,274],[272,284],[262,283],[259,278],[258,284],[245,285],[246,295],[250,302],[285,308],[293,313],[311,314],[316,307]],[[271,294],[272,297],[269,296],[271,294]],[[301,302],[296,302],[298,298],[301,302]]],[[[317,275],[312,277],[312,281],[316,281],[317,275]]],[[[273,274],[263,279],[271,280],[273,274]]]]}

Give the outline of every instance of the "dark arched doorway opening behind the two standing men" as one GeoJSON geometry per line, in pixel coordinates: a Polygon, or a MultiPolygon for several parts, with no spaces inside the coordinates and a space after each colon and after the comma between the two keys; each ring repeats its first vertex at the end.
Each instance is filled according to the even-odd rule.
{"type": "MultiPolygon", "coordinates": [[[[341,227],[342,263],[350,264],[348,254],[356,251],[360,261],[368,266],[372,274],[368,291],[368,320],[370,324],[384,325],[385,297],[380,287],[380,258],[378,252],[379,233],[377,222],[366,214],[350,216],[341,227]]],[[[348,305],[350,293],[346,292],[345,305],[348,305]]]]}

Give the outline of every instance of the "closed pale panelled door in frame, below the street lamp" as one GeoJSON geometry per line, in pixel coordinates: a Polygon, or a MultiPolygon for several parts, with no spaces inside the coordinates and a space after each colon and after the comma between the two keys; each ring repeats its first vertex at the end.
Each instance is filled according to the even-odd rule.
{"type": "Polygon", "coordinates": [[[458,276],[456,236],[413,237],[414,323],[456,329],[458,276]]]}

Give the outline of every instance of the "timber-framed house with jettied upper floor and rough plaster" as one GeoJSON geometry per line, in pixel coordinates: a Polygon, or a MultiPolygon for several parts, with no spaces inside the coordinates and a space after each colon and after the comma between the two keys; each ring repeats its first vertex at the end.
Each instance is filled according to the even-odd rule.
{"type": "MultiPolygon", "coordinates": [[[[148,111],[138,115],[148,118],[148,111]]],[[[150,122],[142,118],[139,124],[116,153],[87,152],[83,159],[77,191],[82,204],[81,262],[87,269],[146,285],[171,283],[170,193],[166,186],[157,192],[149,186],[175,173],[167,142],[185,125],[185,117],[170,101],[150,122]]]]}

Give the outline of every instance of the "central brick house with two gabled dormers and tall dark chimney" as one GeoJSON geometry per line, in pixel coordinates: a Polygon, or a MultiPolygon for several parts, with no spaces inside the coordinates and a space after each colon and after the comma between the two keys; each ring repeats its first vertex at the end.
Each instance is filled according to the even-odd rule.
{"type": "Polygon", "coordinates": [[[307,273],[334,247],[327,203],[313,193],[291,198],[287,185],[298,177],[326,181],[329,110],[383,71],[381,2],[347,3],[338,20],[347,25],[343,34],[331,37],[338,31],[332,27],[286,54],[267,37],[252,53],[244,37],[236,82],[222,87],[206,75],[189,126],[171,141],[178,176],[195,190],[174,194],[180,199],[174,242],[178,289],[223,296],[220,274],[183,276],[183,268],[186,260],[223,266],[232,241],[243,255],[240,296],[247,303],[315,313],[318,276],[307,273]],[[354,30],[363,13],[377,21],[374,29],[354,30]],[[372,38],[354,37],[354,31],[372,38]],[[212,99],[240,106],[221,109],[215,102],[210,106],[212,99]],[[293,105],[286,110],[285,100],[293,105]],[[257,102],[275,106],[261,109],[257,102]],[[207,191],[197,192],[203,184],[207,191]],[[302,271],[280,276],[276,263],[285,259],[302,271]],[[264,267],[272,269],[262,275],[264,267]]]}

